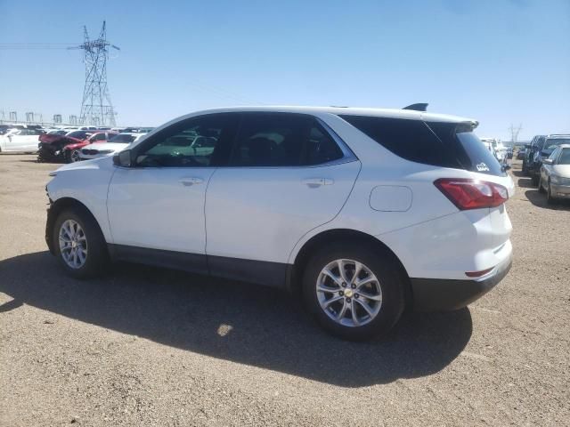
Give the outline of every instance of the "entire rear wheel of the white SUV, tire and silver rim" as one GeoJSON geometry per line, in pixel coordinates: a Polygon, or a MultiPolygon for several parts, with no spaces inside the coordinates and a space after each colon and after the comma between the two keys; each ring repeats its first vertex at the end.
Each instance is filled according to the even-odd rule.
{"type": "Polygon", "coordinates": [[[404,307],[402,271],[366,245],[314,254],[303,278],[305,303],[332,334],[354,341],[386,334],[404,307]]]}

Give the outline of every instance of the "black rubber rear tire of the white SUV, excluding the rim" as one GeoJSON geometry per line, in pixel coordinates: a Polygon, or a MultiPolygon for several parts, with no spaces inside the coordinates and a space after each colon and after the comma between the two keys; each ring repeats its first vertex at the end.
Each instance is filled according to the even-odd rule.
{"type": "Polygon", "coordinates": [[[370,340],[390,331],[403,313],[405,305],[404,286],[405,272],[392,259],[392,256],[382,254],[378,247],[362,244],[323,247],[307,262],[303,274],[303,298],[307,309],[324,329],[350,341],[370,340]],[[330,262],[338,259],[362,262],[378,278],[382,296],[379,312],[375,318],[363,326],[339,324],[329,317],[319,302],[316,291],[317,280],[322,269],[330,262]]]}

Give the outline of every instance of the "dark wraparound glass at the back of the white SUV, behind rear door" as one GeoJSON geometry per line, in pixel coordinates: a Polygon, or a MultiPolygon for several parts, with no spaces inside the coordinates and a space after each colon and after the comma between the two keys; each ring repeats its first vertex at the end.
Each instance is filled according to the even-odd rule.
{"type": "Polygon", "coordinates": [[[501,165],[470,125],[389,117],[340,116],[374,141],[412,162],[503,176],[501,165]]]}

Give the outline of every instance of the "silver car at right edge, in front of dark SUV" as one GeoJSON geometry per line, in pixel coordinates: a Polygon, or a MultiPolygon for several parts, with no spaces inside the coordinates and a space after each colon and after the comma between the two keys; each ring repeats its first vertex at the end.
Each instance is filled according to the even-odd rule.
{"type": "Polygon", "coordinates": [[[570,198],[570,140],[558,145],[549,158],[542,160],[538,190],[546,193],[549,204],[559,198],[570,198]]]}

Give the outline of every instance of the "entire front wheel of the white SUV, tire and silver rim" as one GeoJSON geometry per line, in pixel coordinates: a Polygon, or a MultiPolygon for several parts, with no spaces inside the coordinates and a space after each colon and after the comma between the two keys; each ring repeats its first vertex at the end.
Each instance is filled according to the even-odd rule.
{"type": "Polygon", "coordinates": [[[63,268],[75,278],[101,275],[109,263],[107,245],[93,216],[70,207],[53,224],[53,248],[63,268]]]}

